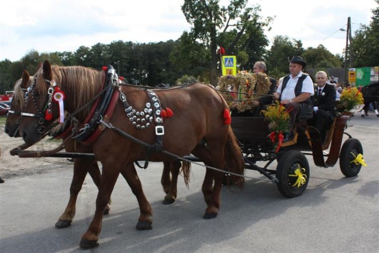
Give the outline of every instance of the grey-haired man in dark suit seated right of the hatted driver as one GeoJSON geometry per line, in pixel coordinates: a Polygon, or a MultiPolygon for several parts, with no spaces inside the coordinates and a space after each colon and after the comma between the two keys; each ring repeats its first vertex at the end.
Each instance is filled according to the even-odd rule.
{"type": "Polygon", "coordinates": [[[336,90],[333,85],[326,84],[327,75],[324,71],[316,74],[317,87],[314,90],[313,118],[310,124],[313,125],[324,139],[326,128],[334,120],[334,103],[336,100],[336,90]]]}

